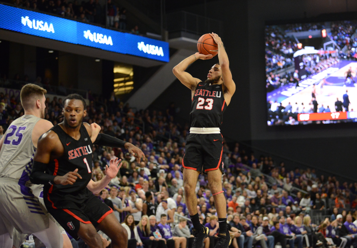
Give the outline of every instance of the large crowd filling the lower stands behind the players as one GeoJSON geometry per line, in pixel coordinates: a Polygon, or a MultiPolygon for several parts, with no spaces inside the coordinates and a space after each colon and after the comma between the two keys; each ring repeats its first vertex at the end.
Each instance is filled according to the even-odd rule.
{"type": "MultiPolygon", "coordinates": [[[[122,159],[118,175],[97,196],[126,228],[128,247],[191,247],[192,226],[186,221],[188,210],[180,171],[188,126],[175,123],[175,105],[170,104],[166,111],[134,113],[114,94],[107,100],[91,94],[89,97],[84,121],[100,124],[101,132],[131,142],[146,155],[146,160],[140,161],[125,149],[97,145],[92,149],[94,181],[104,176],[110,159],[122,159]]],[[[62,107],[61,98],[46,99],[45,119],[57,124],[62,107]]],[[[0,93],[0,135],[22,114],[19,99],[0,93]]],[[[357,218],[357,183],[340,184],[335,177],[318,177],[311,169],[289,171],[283,162],[275,164],[269,156],[256,158],[238,143],[229,147],[224,142],[222,158],[232,247],[260,244],[272,248],[280,243],[282,247],[297,244],[301,248],[305,244],[327,248],[342,242],[341,248],[346,243],[347,247],[357,247],[357,227],[352,223],[357,218]],[[312,224],[314,211],[331,217],[312,224]]],[[[207,175],[199,176],[196,194],[200,221],[211,230],[205,248],[212,248],[218,224],[207,175]]],[[[103,234],[103,238],[107,237],[103,234]]],[[[74,247],[86,247],[81,241],[72,242],[74,247]]],[[[109,246],[110,240],[106,242],[109,246]]]]}

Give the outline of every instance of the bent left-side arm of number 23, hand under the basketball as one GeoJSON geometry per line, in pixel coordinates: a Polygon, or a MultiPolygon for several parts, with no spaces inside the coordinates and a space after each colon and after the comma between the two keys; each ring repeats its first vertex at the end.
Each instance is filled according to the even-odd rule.
{"type": "Polygon", "coordinates": [[[174,72],[178,80],[180,80],[180,82],[183,83],[183,85],[185,85],[187,88],[191,89],[191,91],[196,89],[197,83],[201,82],[201,80],[192,77],[191,74],[185,72],[185,70],[190,64],[192,64],[199,58],[201,60],[208,60],[212,58],[212,55],[204,55],[199,52],[196,52],[194,55],[191,55],[190,57],[187,57],[182,60],[177,66],[174,67],[174,69],[172,69],[172,72],[174,72]]]}

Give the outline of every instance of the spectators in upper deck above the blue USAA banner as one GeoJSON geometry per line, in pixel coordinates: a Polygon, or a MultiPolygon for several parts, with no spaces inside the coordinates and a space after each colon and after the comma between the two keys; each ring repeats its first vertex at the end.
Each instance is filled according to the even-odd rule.
{"type": "Polygon", "coordinates": [[[77,21],[106,25],[106,27],[120,31],[140,34],[137,25],[131,30],[128,29],[126,8],[115,5],[112,0],[107,0],[106,4],[102,4],[99,0],[71,2],[67,0],[4,0],[4,2],[32,11],[47,12],[77,21]]]}

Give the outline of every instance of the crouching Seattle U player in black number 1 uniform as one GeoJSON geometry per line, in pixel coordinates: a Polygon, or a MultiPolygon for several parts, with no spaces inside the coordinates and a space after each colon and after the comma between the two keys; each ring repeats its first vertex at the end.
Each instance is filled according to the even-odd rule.
{"type": "MultiPolygon", "coordinates": [[[[112,209],[93,195],[101,192],[117,175],[121,160],[110,160],[106,176],[97,182],[91,180],[92,141],[89,130],[82,124],[85,109],[85,100],[80,95],[65,98],[63,122],[38,141],[30,180],[44,184],[47,210],[72,237],[80,237],[90,248],[101,248],[104,244],[96,231],[100,229],[111,239],[111,247],[126,247],[126,230],[112,209]]],[[[145,158],[136,146],[99,131],[100,126],[93,131],[97,134],[94,143],[125,148],[136,157],[145,158]]]]}

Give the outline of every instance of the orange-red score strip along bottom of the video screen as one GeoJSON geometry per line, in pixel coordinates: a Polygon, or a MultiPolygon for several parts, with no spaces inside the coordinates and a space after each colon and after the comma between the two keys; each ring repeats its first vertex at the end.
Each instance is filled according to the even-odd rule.
{"type": "Polygon", "coordinates": [[[307,122],[309,120],[346,120],[357,118],[357,112],[327,112],[327,113],[310,113],[298,114],[299,122],[307,122]]]}

